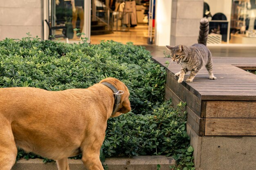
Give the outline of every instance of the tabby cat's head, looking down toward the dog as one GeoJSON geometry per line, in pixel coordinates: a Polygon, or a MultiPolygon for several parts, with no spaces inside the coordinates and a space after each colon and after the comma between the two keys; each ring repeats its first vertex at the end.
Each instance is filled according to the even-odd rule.
{"type": "Polygon", "coordinates": [[[177,62],[178,64],[182,61],[182,59],[185,57],[185,51],[183,45],[177,45],[177,46],[166,46],[166,48],[171,51],[170,56],[174,62],[177,62]]]}

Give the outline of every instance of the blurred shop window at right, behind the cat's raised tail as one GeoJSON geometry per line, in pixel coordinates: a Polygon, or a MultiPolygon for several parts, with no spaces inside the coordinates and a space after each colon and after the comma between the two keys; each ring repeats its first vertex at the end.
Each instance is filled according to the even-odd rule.
{"type": "Polygon", "coordinates": [[[256,44],[255,0],[204,0],[208,44],[256,44]]]}

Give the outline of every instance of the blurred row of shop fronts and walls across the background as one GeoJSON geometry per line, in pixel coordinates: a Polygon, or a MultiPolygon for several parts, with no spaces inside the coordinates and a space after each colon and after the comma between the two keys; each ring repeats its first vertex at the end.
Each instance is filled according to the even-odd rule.
{"type": "Polygon", "coordinates": [[[256,0],[0,0],[0,39],[192,45],[210,21],[209,46],[256,46],[256,0]],[[76,31],[74,31],[76,28],[76,31]],[[84,34],[84,35],[83,35],[84,34]]]}

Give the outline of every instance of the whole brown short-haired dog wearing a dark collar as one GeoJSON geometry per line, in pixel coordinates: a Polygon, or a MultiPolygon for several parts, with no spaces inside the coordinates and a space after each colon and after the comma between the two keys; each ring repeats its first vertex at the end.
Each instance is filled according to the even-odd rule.
{"type": "Polygon", "coordinates": [[[0,169],[11,169],[18,146],[56,160],[58,170],[69,170],[67,157],[80,153],[88,170],[103,170],[99,154],[107,120],[131,110],[129,95],[115,78],[65,91],[0,88],[0,169]]]}

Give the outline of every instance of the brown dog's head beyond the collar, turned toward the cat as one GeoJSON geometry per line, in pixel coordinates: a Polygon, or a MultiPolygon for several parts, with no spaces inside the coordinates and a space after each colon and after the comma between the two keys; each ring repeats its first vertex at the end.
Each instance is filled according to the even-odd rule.
{"type": "Polygon", "coordinates": [[[130,112],[131,110],[130,101],[129,101],[130,93],[126,85],[123,82],[121,82],[119,79],[115,79],[112,77],[103,79],[99,83],[102,83],[102,82],[108,82],[112,84],[115,88],[117,88],[117,90],[124,91],[124,94],[121,95],[121,102],[120,102],[119,108],[117,109],[116,113],[113,113],[111,115],[111,117],[117,117],[122,113],[130,112]]]}

